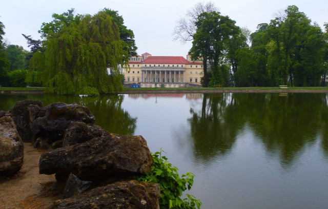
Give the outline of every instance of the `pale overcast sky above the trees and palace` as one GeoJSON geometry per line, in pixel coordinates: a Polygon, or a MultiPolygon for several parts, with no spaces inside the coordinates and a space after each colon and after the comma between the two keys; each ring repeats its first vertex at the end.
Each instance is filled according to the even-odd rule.
{"type": "MultiPolygon", "coordinates": [[[[0,5],[0,22],[5,25],[5,40],[9,44],[23,46],[29,50],[23,34],[39,39],[38,30],[42,23],[52,21],[53,13],[61,14],[74,8],[75,14],[95,14],[110,8],[118,11],[125,25],[133,30],[138,54],[148,52],[156,56],[186,57],[191,43],[185,45],[173,41],[176,21],[198,0],[5,0],[0,5]]],[[[322,28],[328,22],[327,0],[213,0],[223,15],[230,16],[239,27],[252,32],[260,23],[270,23],[274,14],[296,5],[313,22],[322,28]]]]}

